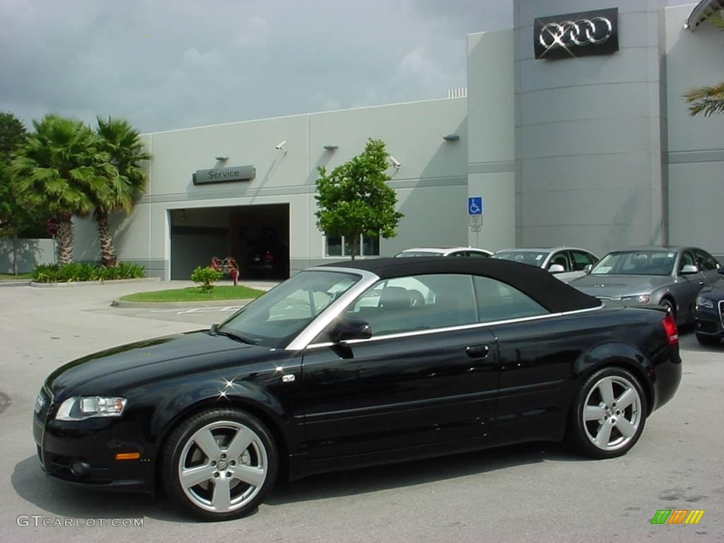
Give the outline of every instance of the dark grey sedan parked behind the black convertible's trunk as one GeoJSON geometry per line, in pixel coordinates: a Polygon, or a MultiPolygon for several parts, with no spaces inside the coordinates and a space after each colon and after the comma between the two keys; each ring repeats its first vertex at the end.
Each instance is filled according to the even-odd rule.
{"type": "Polygon", "coordinates": [[[719,280],[719,267],[697,247],[631,248],[608,253],[571,286],[602,300],[660,305],[676,324],[691,324],[696,296],[719,280]]]}

